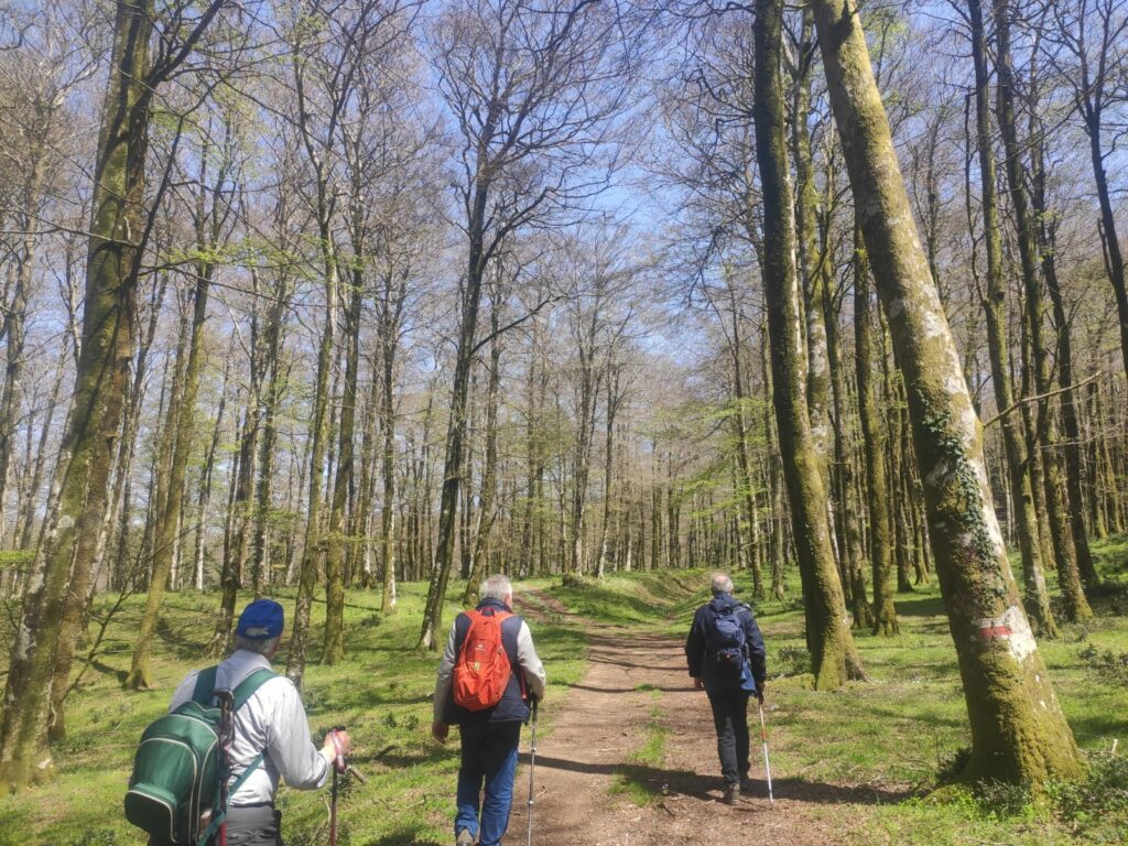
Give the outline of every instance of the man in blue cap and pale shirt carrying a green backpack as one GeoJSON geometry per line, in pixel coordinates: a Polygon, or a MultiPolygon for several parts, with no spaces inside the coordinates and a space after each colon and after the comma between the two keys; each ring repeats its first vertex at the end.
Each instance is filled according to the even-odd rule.
{"type": "Polygon", "coordinates": [[[343,730],[318,749],[298,689],[271,670],[283,623],[277,602],[250,602],[231,655],[188,673],[142,735],[125,814],[151,846],[281,846],[279,782],[320,787],[352,750],[343,730]]]}

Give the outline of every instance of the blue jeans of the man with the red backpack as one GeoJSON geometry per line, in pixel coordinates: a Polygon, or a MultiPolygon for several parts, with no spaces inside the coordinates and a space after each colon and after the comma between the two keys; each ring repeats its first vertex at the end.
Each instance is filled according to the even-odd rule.
{"type": "Polygon", "coordinates": [[[517,775],[517,746],[521,739],[521,723],[464,723],[459,733],[462,738],[462,760],[458,769],[455,835],[467,828],[478,837],[481,846],[499,846],[509,827],[509,811],[513,803],[513,776],[517,775]],[[485,800],[481,802],[479,826],[483,782],[485,800]]]}

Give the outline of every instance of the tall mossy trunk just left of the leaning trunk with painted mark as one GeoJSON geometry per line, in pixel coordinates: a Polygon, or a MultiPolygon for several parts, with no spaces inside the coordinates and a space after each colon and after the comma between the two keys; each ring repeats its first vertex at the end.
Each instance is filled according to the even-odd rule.
{"type": "Polygon", "coordinates": [[[782,2],[757,1],[752,116],[764,194],[764,289],[773,398],[803,581],[811,669],[817,688],[834,689],[848,679],[861,678],[863,672],[831,548],[822,459],[811,437],[803,385],[803,316],[781,74],[782,21],[782,2]]]}

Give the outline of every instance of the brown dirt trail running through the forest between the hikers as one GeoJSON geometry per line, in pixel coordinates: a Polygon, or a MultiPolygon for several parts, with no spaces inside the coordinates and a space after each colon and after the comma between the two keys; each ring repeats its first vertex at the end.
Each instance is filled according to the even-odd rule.
{"type": "MultiPolygon", "coordinates": [[[[534,626],[545,614],[584,623],[541,592],[522,594],[519,606],[534,626]]],[[[550,698],[544,706],[552,714],[552,732],[537,741],[536,846],[714,846],[747,838],[797,846],[839,841],[828,823],[804,811],[811,804],[848,803],[853,791],[781,778],[773,772],[772,808],[755,724],[750,729],[756,788],[735,805],[721,801],[708,700],[686,675],[679,641],[585,625],[588,670],[566,694],[549,686],[550,698]],[[656,732],[664,734],[661,765],[633,763],[632,756],[656,732]],[[643,805],[632,802],[629,792],[616,787],[625,781],[652,800],[643,805]]],[[[547,669],[550,676],[552,668],[547,669]]],[[[756,712],[749,710],[749,716],[755,720],[756,712]]],[[[769,748],[772,733],[769,729],[769,748]]],[[[509,844],[525,843],[528,829],[528,731],[521,749],[523,766],[514,785],[509,844]]]]}

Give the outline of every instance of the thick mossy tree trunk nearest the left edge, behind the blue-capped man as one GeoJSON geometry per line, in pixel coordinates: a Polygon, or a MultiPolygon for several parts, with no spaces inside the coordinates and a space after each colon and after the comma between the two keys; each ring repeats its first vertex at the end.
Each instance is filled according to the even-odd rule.
{"type": "Polygon", "coordinates": [[[89,567],[129,390],[152,80],[152,7],[120,0],[94,170],[82,346],[52,483],[55,503],[28,575],[0,719],[0,794],[50,776],[50,688],[72,572],[89,567]]]}

